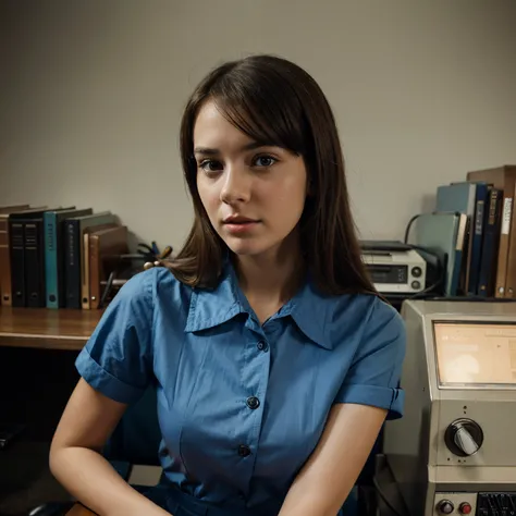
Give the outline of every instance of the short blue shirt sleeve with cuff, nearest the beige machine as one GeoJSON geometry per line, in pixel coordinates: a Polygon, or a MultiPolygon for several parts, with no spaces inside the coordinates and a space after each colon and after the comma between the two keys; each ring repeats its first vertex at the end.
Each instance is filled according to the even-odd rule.
{"type": "Polygon", "coordinates": [[[335,403],[371,405],[388,409],[388,419],[402,417],[404,392],[400,377],[405,346],[402,317],[390,305],[376,299],[335,403]]]}

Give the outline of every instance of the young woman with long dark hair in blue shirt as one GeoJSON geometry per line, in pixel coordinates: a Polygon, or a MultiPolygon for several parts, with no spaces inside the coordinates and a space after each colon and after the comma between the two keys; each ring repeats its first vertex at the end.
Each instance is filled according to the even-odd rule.
{"type": "Polygon", "coordinates": [[[402,415],[405,332],[360,260],[331,109],[286,60],[229,62],[181,151],[192,232],[108,306],[51,469],[100,515],[335,516],[402,415]],[[165,481],[142,494],[99,451],[150,384],[165,481]]]}

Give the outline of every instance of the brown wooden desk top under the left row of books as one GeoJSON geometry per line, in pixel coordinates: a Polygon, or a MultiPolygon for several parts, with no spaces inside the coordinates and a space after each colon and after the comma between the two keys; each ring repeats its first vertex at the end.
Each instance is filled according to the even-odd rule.
{"type": "Polygon", "coordinates": [[[0,346],[82,349],[103,310],[0,307],[0,346]]]}

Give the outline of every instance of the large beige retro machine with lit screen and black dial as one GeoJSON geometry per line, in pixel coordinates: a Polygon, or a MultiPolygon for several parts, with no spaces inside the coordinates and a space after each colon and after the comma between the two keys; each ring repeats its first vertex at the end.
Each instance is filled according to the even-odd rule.
{"type": "Polygon", "coordinates": [[[516,516],[516,304],[406,300],[385,454],[410,516],[516,516]]]}

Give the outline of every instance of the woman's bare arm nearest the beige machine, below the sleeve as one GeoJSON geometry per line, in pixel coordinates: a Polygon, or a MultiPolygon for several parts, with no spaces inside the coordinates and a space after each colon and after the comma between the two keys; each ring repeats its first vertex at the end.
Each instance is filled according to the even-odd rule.
{"type": "Polygon", "coordinates": [[[386,413],[366,405],[334,405],[279,516],[335,516],[366,464],[386,413]]]}

